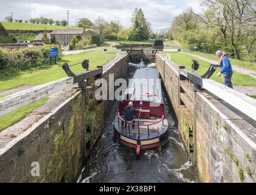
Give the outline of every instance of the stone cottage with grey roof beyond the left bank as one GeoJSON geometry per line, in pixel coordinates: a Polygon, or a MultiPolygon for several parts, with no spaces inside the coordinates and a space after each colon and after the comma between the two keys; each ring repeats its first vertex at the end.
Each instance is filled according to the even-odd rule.
{"type": "Polygon", "coordinates": [[[58,44],[61,48],[68,47],[72,38],[77,38],[78,36],[80,36],[82,40],[91,39],[92,36],[99,36],[100,40],[102,40],[102,35],[93,30],[85,29],[53,30],[53,32],[50,33],[50,36],[51,38],[55,37],[56,44],[58,44]]]}

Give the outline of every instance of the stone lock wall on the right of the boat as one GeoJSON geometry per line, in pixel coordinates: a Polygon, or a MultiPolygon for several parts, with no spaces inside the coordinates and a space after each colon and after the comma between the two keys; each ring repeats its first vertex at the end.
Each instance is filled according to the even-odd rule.
{"type": "Polygon", "coordinates": [[[156,55],[156,66],[199,180],[255,182],[255,121],[208,91],[195,92],[186,70],[162,54],[156,55]]]}

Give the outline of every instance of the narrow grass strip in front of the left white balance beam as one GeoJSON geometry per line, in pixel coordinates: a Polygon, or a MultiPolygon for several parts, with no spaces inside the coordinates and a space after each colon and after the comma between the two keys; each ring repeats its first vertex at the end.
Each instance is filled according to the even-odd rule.
{"type": "Polygon", "coordinates": [[[18,110],[15,110],[7,115],[0,117],[0,132],[1,130],[6,129],[7,127],[12,126],[13,124],[21,121],[26,115],[35,110],[36,108],[40,107],[41,105],[45,104],[48,101],[48,98],[42,98],[39,101],[33,102],[29,105],[26,105],[18,110]]]}

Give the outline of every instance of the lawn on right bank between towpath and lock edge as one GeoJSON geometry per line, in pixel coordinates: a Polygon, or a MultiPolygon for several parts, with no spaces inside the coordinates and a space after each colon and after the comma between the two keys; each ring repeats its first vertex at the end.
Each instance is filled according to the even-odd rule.
{"type": "MultiPolygon", "coordinates": [[[[195,57],[192,57],[190,55],[182,54],[179,52],[163,52],[164,54],[170,54],[171,60],[175,62],[177,65],[184,65],[186,66],[186,69],[192,71],[192,60],[197,60],[199,63],[204,65],[209,65],[208,62],[205,62],[203,60],[197,59],[195,57]]],[[[198,71],[196,71],[197,74],[203,75],[207,71],[207,68],[200,66],[198,71]]],[[[216,73],[219,73],[220,69],[218,68],[216,73]]],[[[216,74],[214,74],[211,79],[215,80],[216,82],[222,83],[222,77],[218,77],[216,74]]],[[[237,73],[234,71],[233,77],[232,77],[233,85],[241,85],[241,86],[256,86],[256,79],[253,77],[247,76],[246,74],[237,73]]]]}

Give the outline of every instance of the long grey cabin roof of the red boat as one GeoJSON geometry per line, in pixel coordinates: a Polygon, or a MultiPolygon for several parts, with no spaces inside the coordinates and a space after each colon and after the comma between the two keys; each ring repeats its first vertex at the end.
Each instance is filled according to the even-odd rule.
{"type": "Polygon", "coordinates": [[[129,87],[125,96],[130,101],[149,101],[163,103],[161,82],[155,68],[138,69],[134,77],[129,79],[129,87]]]}

